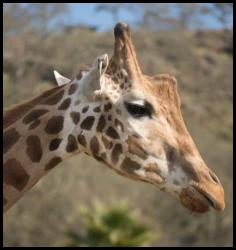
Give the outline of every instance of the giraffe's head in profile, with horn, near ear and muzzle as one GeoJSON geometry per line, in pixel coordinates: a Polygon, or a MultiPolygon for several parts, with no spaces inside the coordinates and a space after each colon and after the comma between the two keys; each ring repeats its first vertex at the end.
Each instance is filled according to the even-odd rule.
{"type": "Polygon", "coordinates": [[[82,150],[120,175],[177,196],[192,211],[223,210],[223,187],[186,129],[176,79],[142,73],[126,24],[118,23],[114,35],[112,58],[97,58],[78,83],[92,107],[80,124],[82,150]]]}

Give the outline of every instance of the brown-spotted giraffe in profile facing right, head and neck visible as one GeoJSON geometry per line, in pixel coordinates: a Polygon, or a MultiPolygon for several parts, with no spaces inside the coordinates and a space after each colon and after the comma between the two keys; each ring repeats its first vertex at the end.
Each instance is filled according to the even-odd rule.
{"type": "Polygon", "coordinates": [[[177,80],[142,73],[127,24],[117,23],[114,37],[110,59],[99,56],[72,80],[54,71],[57,87],[4,111],[4,211],[79,153],[190,211],[224,209],[223,186],[185,126],[177,80]]]}

